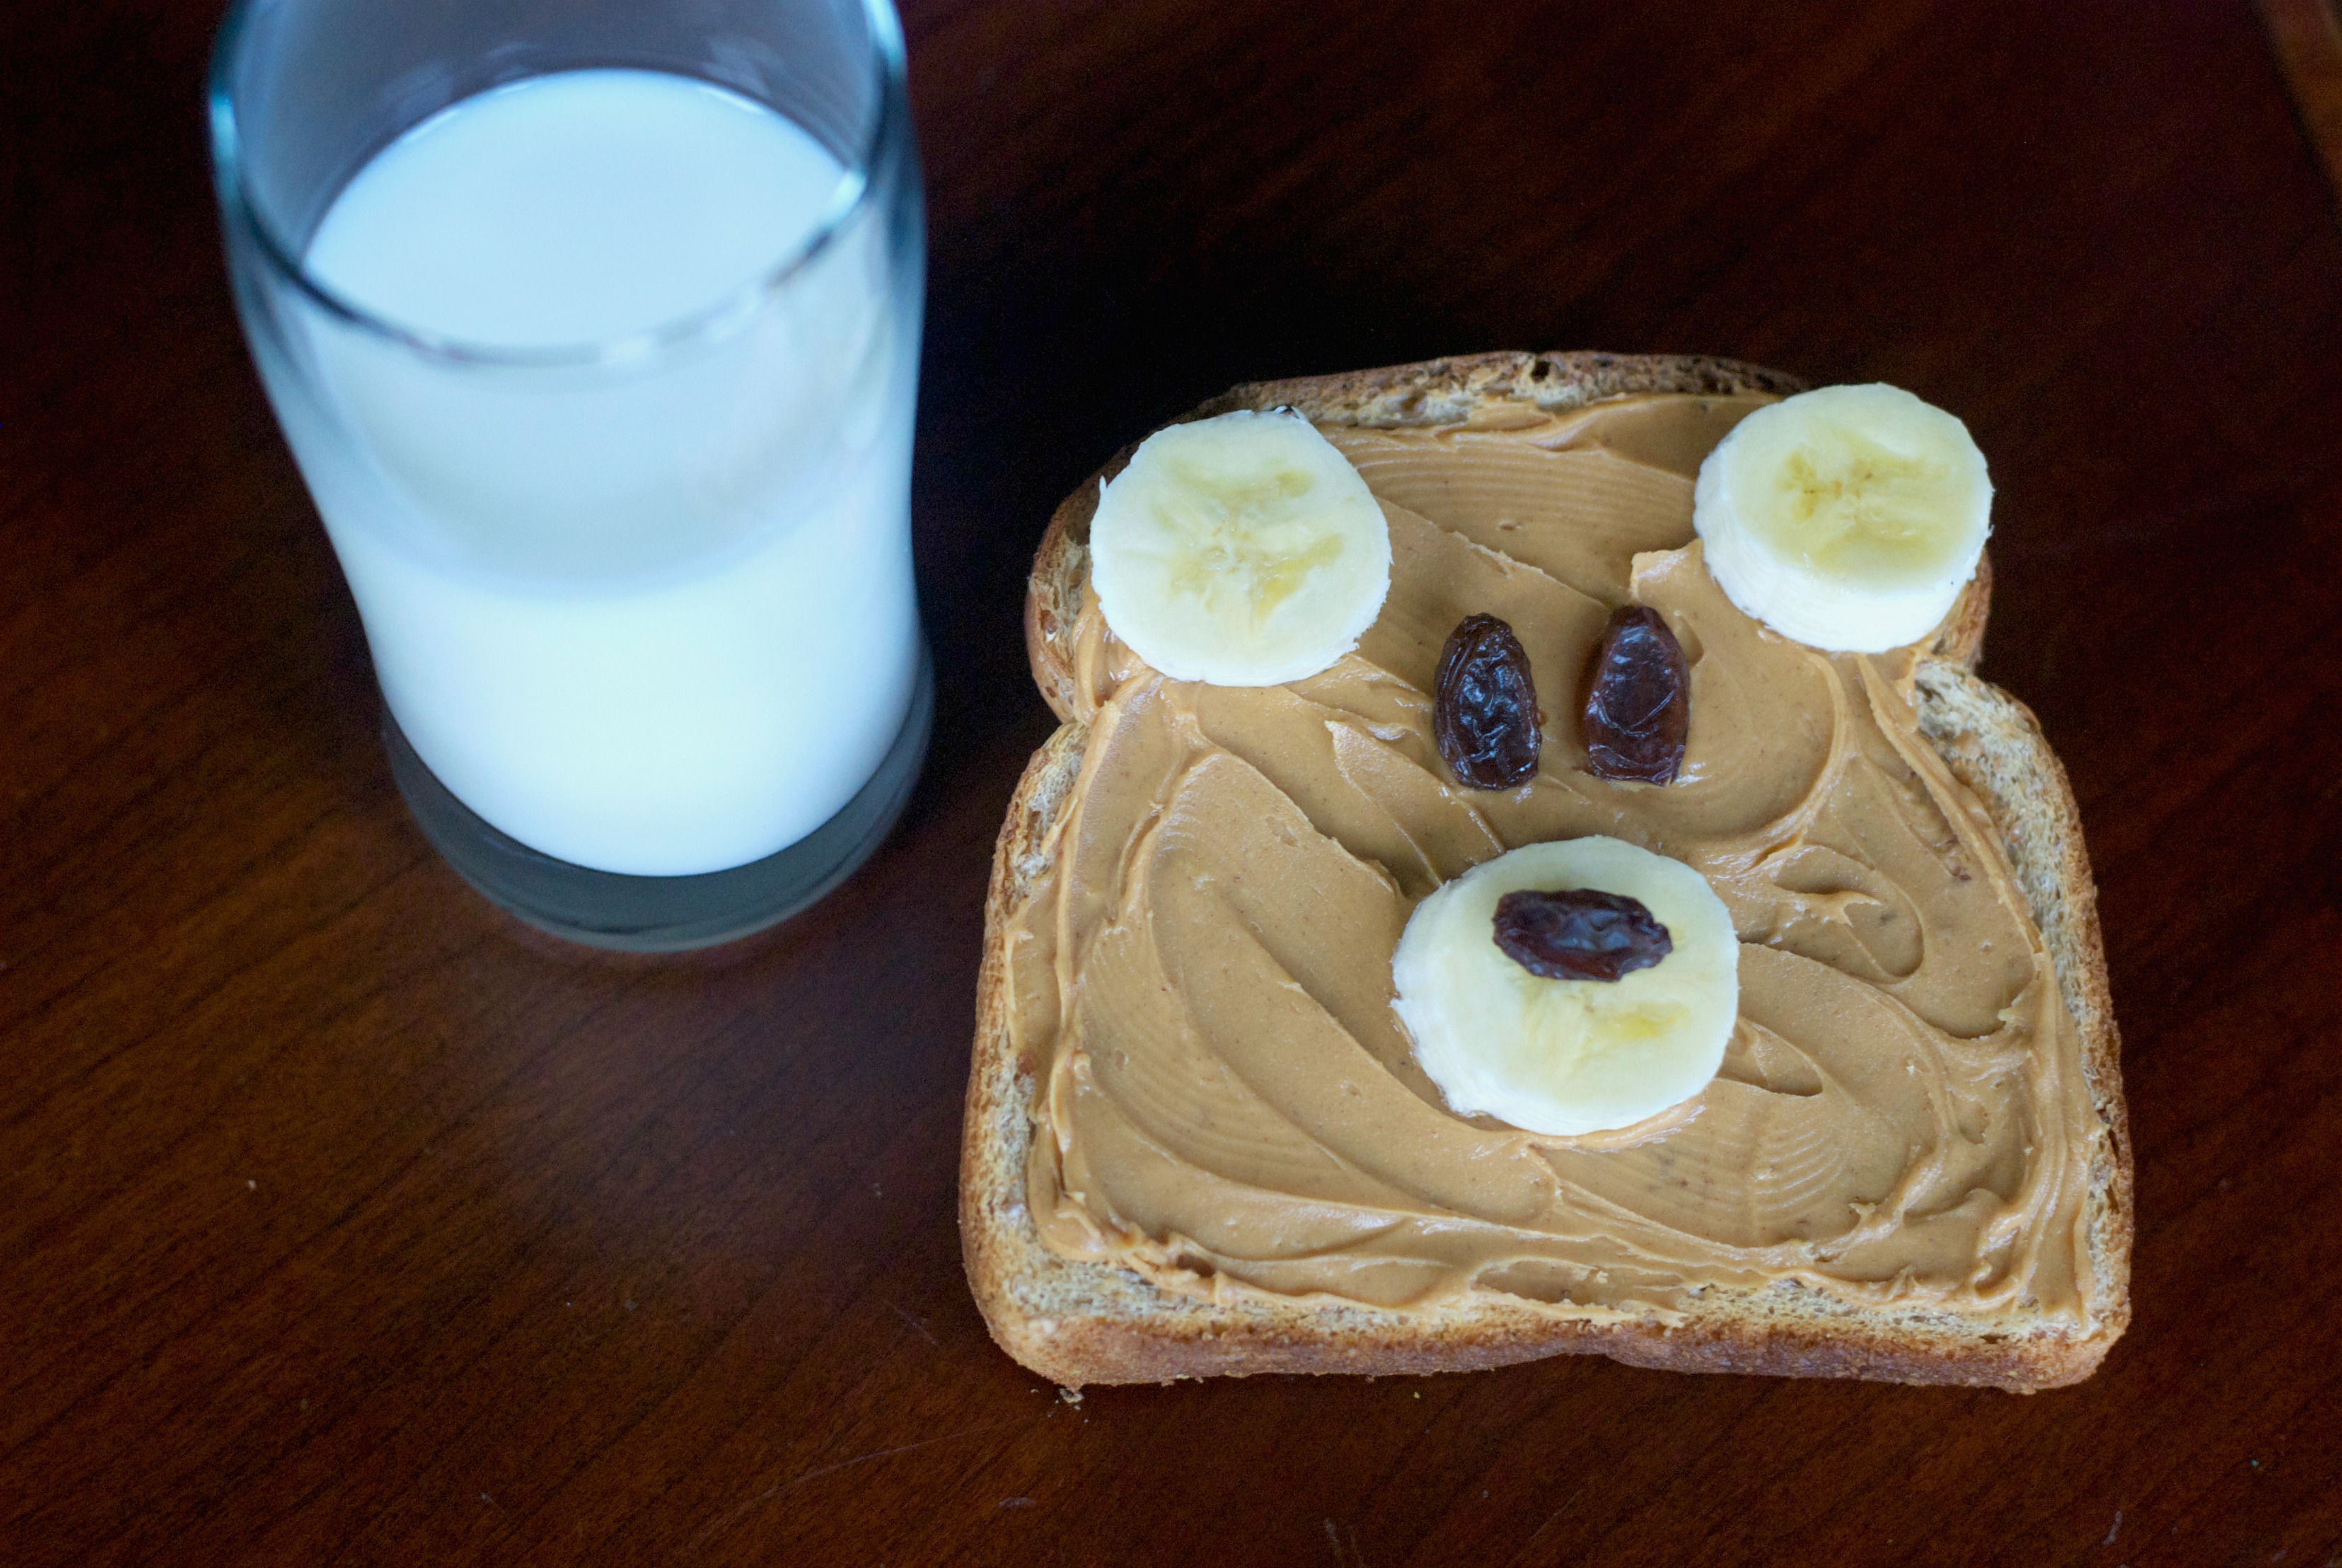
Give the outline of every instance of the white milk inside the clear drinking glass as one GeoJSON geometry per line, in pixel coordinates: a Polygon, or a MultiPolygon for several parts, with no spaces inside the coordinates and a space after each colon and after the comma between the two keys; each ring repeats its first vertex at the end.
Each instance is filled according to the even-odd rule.
{"type": "Polygon", "coordinates": [[[311,311],[288,435],[398,725],[534,850],[738,866],[902,728],[916,293],[871,201],[761,288],[843,183],[747,98],[576,70],[415,126],[316,229],[311,276],[452,351],[311,311]]]}

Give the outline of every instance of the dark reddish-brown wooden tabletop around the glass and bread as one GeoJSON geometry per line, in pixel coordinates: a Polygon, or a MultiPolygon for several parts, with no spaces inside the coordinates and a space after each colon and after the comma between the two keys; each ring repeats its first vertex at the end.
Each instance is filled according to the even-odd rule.
{"type": "Polygon", "coordinates": [[[539,938],[403,814],[227,307],[213,5],[0,9],[0,1561],[2330,1563],[2342,225],[2234,5],[916,0],[941,728],[813,915],[539,938]],[[1091,1390],[953,1165],[1049,506],[1220,386],[1712,351],[1960,412],[2136,1322],[2038,1397],[1091,1390]]]}

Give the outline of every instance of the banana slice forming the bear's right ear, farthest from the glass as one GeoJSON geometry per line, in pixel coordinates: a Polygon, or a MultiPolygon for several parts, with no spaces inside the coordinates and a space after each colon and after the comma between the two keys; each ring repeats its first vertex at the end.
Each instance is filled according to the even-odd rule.
{"type": "Polygon", "coordinates": [[[1951,611],[1991,510],[1965,424],[1899,386],[1824,386],[1733,426],[1700,463],[1691,527],[1756,620],[1831,653],[1885,653],[1951,611]]]}

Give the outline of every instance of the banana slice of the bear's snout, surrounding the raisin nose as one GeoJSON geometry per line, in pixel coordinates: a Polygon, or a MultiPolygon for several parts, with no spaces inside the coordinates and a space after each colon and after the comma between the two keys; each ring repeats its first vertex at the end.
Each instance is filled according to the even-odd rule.
{"type": "Polygon", "coordinates": [[[1717,1077],[1740,1016],[1740,943],[1691,866],[1571,838],[1499,854],[1417,903],[1391,981],[1450,1109],[1576,1137],[1656,1116],[1717,1077]],[[1623,894],[1672,948],[1616,981],[1536,976],[1497,945],[1497,901],[1522,889],[1623,894]]]}

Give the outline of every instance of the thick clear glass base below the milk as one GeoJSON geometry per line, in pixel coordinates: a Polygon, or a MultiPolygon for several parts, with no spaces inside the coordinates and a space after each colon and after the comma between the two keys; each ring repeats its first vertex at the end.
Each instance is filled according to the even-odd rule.
{"type": "Polygon", "coordinates": [[[489,903],[539,931],[625,953],[712,948],[780,924],[813,906],[852,875],[892,831],[911,800],[932,728],[934,669],[920,648],[911,714],[902,721],[902,733],[878,763],[878,772],[836,817],[787,850],[747,866],[691,878],[632,878],[557,861],[485,824],[424,768],[424,758],[408,744],[389,707],[382,709],[382,744],[391,754],[391,779],[398,782],[398,793],[424,838],[454,866],[454,873],[489,903]]]}

